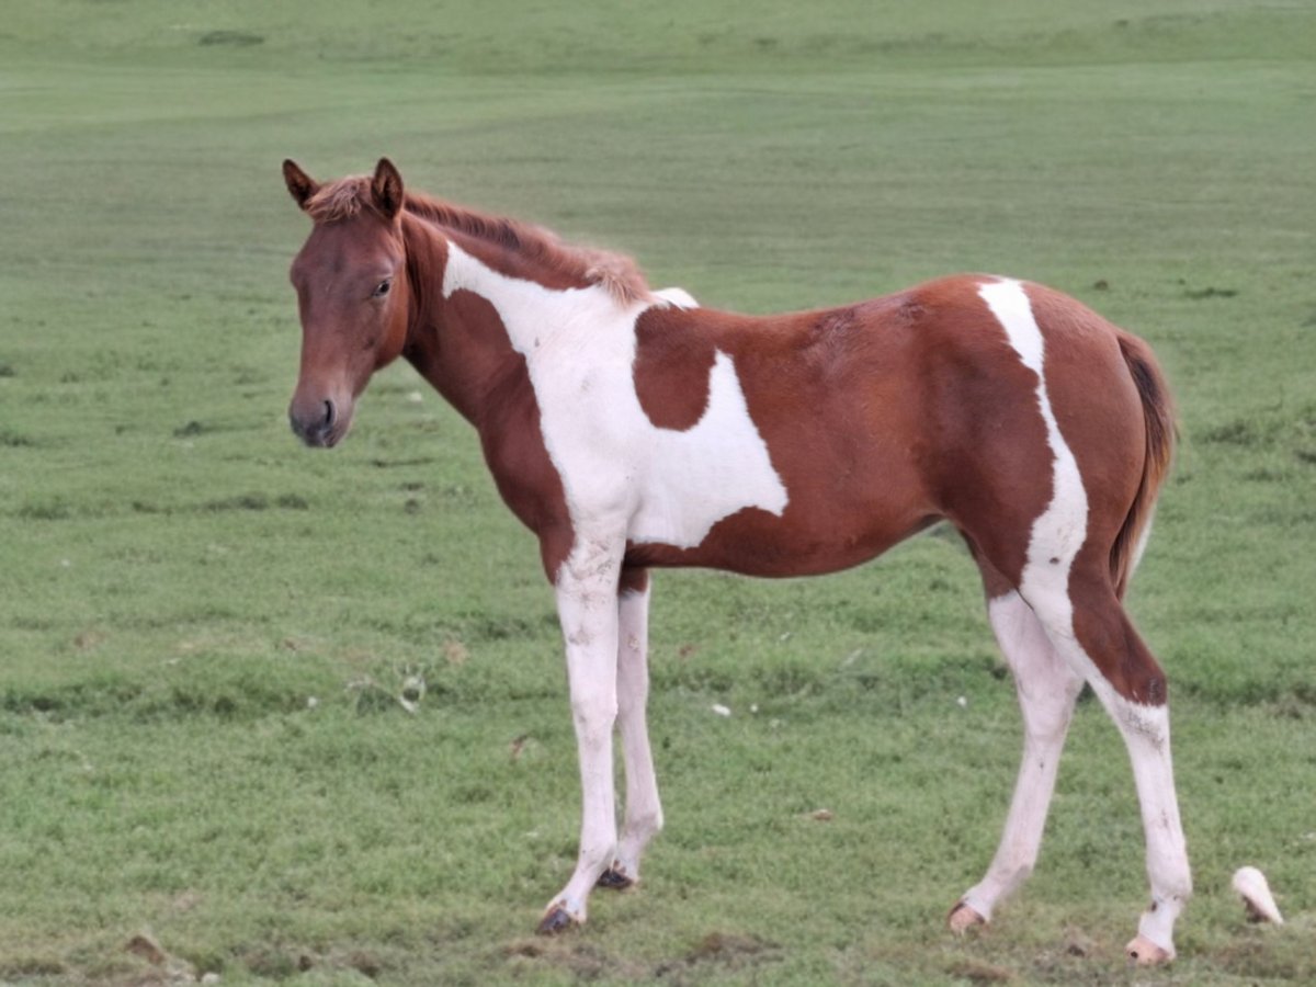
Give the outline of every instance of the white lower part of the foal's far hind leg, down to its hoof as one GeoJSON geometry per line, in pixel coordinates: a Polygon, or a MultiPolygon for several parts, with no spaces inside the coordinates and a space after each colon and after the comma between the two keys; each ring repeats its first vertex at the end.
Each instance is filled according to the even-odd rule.
{"type": "Polygon", "coordinates": [[[1055,654],[1037,615],[1017,592],[988,604],[1024,715],[1024,759],[1005,830],[987,875],[961,899],[984,920],[1033,871],[1051,792],[1083,679],[1055,654]]]}

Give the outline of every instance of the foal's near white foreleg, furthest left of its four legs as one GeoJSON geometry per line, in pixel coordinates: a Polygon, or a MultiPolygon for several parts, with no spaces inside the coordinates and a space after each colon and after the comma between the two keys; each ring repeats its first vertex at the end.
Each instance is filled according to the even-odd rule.
{"type": "Polygon", "coordinates": [[[580,538],[558,572],[571,716],[580,757],[580,849],[575,873],[549,903],[540,932],[586,920],[586,903],[617,845],[612,728],[617,717],[617,578],[624,541],[580,538]]]}

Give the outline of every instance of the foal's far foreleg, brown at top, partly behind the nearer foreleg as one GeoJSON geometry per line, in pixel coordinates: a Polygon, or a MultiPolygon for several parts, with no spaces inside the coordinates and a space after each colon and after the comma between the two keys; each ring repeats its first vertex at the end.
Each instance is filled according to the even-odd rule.
{"type": "Polygon", "coordinates": [[[649,701],[649,578],[644,570],[628,571],[622,576],[617,617],[617,728],[626,767],[626,807],[617,855],[599,878],[599,884],[620,890],[640,880],[640,857],[662,829],[662,804],[645,719],[649,701]]]}

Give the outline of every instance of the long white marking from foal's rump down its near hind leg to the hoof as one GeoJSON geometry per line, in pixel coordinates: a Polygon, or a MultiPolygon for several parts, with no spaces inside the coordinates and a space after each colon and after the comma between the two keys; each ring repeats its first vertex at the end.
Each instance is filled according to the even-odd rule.
{"type": "Polygon", "coordinates": [[[1124,736],[1142,809],[1152,884],[1152,907],[1138,923],[1138,932],[1173,957],[1174,920],[1192,891],[1192,882],[1174,794],[1169,712],[1165,707],[1130,703],[1116,694],[1074,633],[1069,574],[1087,537],[1087,492],[1074,453],[1051,411],[1044,375],[1042,334],[1024,287],[1019,282],[1001,280],[980,286],[978,293],[1004,328],[1019,358],[1037,374],[1037,404],[1054,455],[1051,503],[1033,522],[1020,594],[1037,613],[1057,653],[1091,683],[1124,736]]]}

